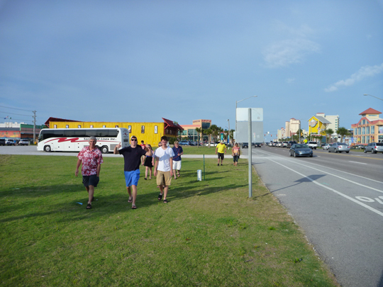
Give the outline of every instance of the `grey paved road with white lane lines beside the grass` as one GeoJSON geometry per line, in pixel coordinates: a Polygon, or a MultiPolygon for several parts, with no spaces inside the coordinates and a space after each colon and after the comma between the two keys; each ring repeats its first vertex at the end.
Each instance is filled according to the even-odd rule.
{"type": "Polygon", "coordinates": [[[342,286],[383,286],[383,154],[262,147],[252,163],[342,286]]]}

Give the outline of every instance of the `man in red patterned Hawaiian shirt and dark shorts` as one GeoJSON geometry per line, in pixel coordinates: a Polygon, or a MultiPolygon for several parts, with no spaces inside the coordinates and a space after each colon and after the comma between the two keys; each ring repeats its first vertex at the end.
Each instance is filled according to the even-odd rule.
{"type": "Polygon", "coordinates": [[[99,183],[101,164],[104,162],[100,150],[96,147],[96,142],[96,137],[89,137],[89,147],[84,147],[77,155],[79,159],[77,159],[76,172],[74,173],[76,176],[79,175],[79,166],[82,164],[82,183],[87,188],[89,195],[87,209],[91,209],[94,188],[99,183]]]}

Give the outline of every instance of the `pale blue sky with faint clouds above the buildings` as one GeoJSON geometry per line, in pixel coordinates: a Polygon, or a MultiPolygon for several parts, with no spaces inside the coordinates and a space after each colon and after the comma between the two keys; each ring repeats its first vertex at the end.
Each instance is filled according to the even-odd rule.
{"type": "Polygon", "coordinates": [[[350,128],[383,112],[363,96],[383,98],[382,75],[382,0],[0,0],[1,121],[234,128],[256,95],[238,108],[263,108],[265,133],[319,112],[350,128]]]}

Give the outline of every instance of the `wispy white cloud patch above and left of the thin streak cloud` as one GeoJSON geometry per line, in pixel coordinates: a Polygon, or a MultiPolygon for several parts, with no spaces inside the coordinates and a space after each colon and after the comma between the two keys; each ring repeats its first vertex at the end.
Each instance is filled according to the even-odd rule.
{"type": "Polygon", "coordinates": [[[283,40],[265,49],[264,57],[267,67],[286,67],[289,64],[303,62],[304,57],[314,52],[320,52],[317,43],[311,40],[283,40]]]}

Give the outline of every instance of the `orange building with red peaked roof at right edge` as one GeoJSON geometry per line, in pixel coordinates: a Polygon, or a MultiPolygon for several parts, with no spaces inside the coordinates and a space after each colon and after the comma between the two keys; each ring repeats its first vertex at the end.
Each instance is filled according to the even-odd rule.
{"type": "Polygon", "coordinates": [[[355,145],[367,145],[370,142],[383,142],[383,119],[381,112],[368,108],[359,115],[359,122],[351,125],[354,131],[355,145]]]}

